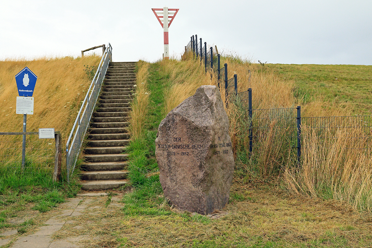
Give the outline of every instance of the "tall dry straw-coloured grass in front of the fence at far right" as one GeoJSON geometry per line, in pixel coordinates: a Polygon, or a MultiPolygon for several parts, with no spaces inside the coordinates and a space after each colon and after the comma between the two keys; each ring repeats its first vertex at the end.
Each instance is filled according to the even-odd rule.
{"type": "Polygon", "coordinates": [[[345,200],[355,209],[372,211],[372,154],[360,129],[339,128],[321,134],[302,127],[301,167],[286,168],[288,189],[310,197],[345,200]]]}

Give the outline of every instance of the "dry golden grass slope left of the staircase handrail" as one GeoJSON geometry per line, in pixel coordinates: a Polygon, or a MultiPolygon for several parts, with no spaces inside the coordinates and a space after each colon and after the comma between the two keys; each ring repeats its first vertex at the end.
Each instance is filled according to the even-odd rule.
{"type": "MultiPolygon", "coordinates": [[[[91,81],[87,79],[84,65],[98,65],[100,57],[38,58],[32,61],[0,61],[0,132],[22,132],[23,115],[16,114],[17,85],[15,75],[26,66],[38,77],[33,93],[34,114],[27,115],[27,132],[39,128],[61,131],[63,146],[70,135],[81,101],[91,81]]],[[[1,141],[14,141],[17,137],[0,136],[1,141]]],[[[28,136],[39,148],[49,148],[48,141],[39,141],[37,135],[28,136]]],[[[22,138],[21,138],[22,140],[22,138]]],[[[50,140],[49,140],[50,142],[50,140]]],[[[50,142],[54,144],[53,142],[50,142]]],[[[8,142],[1,142],[3,150],[8,142]]],[[[17,142],[22,146],[22,142],[17,142]]],[[[15,145],[17,145],[15,144],[15,145]]],[[[19,147],[19,146],[18,146],[19,147]]]]}

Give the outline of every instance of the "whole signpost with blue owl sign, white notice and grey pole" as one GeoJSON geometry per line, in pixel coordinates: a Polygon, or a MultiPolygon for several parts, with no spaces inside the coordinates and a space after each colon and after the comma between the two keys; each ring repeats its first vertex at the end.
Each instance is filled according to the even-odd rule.
{"type": "MultiPolygon", "coordinates": [[[[27,114],[33,115],[33,90],[35,89],[36,80],[35,74],[25,67],[16,75],[16,83],[18,88],[16,113],[23,114],[23,132],[26,132],[27,114]]],[[[26,135],[22,139],[22,169],[25,168],[26,160],[26,135]]]]}

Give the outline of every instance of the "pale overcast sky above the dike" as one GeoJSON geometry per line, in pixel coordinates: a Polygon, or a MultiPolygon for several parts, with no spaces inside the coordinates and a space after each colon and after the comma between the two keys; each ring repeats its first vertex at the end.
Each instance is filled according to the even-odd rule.
{"type": "MultiPolygon", "coordinates": [[[[371,0],[0,0],[0,60],[75,57],[110,44],[113,61],[156,61],[163,29],[151,8],[180,9],[170,55],[190,36],[221,53],[281,64],[372,65],[371,0]]],[[[96,50],[98,53],[99,49],[96,50]]]]}

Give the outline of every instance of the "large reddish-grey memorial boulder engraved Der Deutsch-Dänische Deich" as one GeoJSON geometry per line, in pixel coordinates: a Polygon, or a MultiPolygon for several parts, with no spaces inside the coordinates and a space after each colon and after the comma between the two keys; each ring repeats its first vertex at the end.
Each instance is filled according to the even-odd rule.
{"type": "Polygon", "coordinates": [[[201,86],[161,121],[155,154],[164,196],[181,210],[213,213],[229,200],[234,156],[216,86],[201,86]]]}

